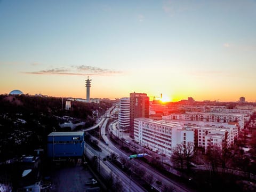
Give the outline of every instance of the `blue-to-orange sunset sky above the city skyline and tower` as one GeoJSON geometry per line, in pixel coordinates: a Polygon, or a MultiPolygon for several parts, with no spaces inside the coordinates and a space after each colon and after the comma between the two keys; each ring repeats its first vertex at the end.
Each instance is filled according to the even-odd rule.
{"type": "Polygon", "coordinates": [[[0,0],[0,94],[255,102],[255,74],[255,0],[0,0]]]}

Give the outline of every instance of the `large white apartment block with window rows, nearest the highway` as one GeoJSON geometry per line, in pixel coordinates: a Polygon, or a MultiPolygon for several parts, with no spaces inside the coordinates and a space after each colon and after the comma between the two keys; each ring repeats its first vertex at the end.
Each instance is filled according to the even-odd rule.
{"type": "Polygon", "coordinates": [[[178,144],[194,142],[194,131],[186,130],[178,122],[135,118],[134,140],[153,151],[171,156],[178,144]]]}

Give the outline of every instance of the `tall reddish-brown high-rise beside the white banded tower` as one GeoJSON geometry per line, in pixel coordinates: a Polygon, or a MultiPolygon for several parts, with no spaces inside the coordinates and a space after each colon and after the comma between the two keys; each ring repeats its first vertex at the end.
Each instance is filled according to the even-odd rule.
{"type": "Polygon", "coordinates": [[[134,138],[134,118],[149,118],[149,97],[146,93],[130,93],[130,137],[134,138]]]}

